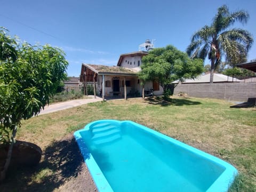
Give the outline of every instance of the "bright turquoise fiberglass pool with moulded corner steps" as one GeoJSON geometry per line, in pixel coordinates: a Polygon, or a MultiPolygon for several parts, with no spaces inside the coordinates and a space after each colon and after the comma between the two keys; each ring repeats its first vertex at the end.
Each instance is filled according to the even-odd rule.
{"type": "Polygon", "coordinates": [[[100,120],[74,133],[100,192],[226,192],[229,163],[132,121],[100,120]]]}

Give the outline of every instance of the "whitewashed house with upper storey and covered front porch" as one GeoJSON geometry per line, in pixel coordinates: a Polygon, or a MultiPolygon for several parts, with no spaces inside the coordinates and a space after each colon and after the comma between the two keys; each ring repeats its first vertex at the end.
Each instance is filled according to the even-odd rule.
{"type": "MultiPolygon", "coordinates": [[[[82,63],[79,81],[84,89],[90,82],[94,87],[94,95],[106,96],[141,96],[142,85],[138,77],[141,70],[141,59],[147,55],[146,51],[121,54],[116,66],[82,63]]],[[[163,88],[157,81],[148,81],[145,90],[154,89],[155,95],[161,95],[163,88]]]]}

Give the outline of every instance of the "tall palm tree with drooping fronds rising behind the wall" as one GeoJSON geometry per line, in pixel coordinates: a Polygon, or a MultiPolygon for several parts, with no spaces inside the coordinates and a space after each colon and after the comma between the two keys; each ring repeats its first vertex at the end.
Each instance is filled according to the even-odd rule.
{"type": "Polygon", "coordinates": [[[211,60],[211,84],[214,69],[220,64],[222,56],[229,62],[239,62],[241,57],[246,58],[253,43],[252,35],[247,30],[229,28],[235,21],[246,23],[248,19],[249,14],[246,11],[230,13],[228,7],[223,5],[219,7],[211,26],[204,26],[191,38],[187,53],[192,58],[203,60],[208,55],[211,60]]]}

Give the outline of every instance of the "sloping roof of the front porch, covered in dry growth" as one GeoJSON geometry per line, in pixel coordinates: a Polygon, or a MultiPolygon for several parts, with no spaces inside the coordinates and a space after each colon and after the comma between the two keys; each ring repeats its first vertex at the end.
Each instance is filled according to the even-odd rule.
{"type": "Polygon", "coordinates": [[[94,73],[96,75],[108,75],[108,76],[137,76],[137,72],[133,69],[123,68],[121,66],[107,66],[98,64],[85,64],[82,63],[80,81],[83,81],[84,73],[87,82],[93,81],[94,73]]]}

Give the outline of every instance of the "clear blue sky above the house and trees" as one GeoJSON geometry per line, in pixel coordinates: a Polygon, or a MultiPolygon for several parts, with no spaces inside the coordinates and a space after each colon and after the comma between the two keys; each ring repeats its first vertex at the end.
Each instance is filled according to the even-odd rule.
{"type": "Polygon", "coordinates": [[[30,44],[62,48],[68,76],[78,77],[82,62],[116,65],[120,54],[138,51],[146,39],[186,51],[194,32],[210,25],[223,4],[249,12],[249,22],[234,27],[251,32],[247,59],[256,59],[255,0],[0,0],[0,26],[30,44]]]}

